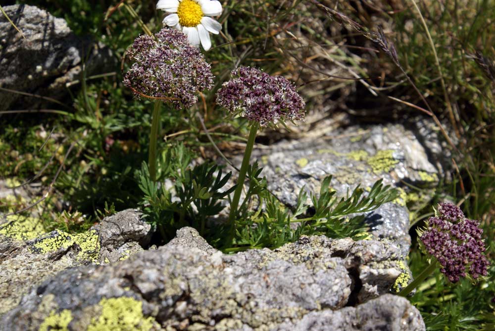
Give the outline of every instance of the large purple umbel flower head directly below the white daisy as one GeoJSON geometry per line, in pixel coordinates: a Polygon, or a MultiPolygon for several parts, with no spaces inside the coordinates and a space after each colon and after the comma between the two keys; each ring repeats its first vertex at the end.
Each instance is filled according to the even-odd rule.
{"type": "Polygon", "coordinates": [[[182,32],[164,28],[155,37],[139,36],[127,50],[132,65],[124,85],[138,96],[173,97],[177,108],[192,106],[198,91],[213,86],[210,65],[182,32]]]}

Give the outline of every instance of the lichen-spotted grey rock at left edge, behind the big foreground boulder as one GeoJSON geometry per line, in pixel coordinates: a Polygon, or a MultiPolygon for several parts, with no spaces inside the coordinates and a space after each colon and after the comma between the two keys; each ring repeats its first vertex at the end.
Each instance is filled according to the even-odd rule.
{"type": "Polygon", "coordinates": [[[62,270],[123,260],[142,251],[139,243],[148,243],[151,227],[140,216],[136,210],[128,209],[103,219],[101,240],[99,227],[77,235],[56,230],[19,240],[18,233],[23,232],[23,228],[18,223],[22,219],[1,225],[0,315],[17,305],[30,286],[62,270]]]}

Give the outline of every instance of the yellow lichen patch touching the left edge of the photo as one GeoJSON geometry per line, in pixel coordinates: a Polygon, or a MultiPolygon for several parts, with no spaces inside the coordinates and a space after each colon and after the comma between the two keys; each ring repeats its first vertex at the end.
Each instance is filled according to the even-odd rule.
{"type": "Polygon", "coordinates": [[[0,226],[0,235],[15,240],[30,240],[46,232],[41,220],[22,215],[7,216],[7,222],[0,226]]]}

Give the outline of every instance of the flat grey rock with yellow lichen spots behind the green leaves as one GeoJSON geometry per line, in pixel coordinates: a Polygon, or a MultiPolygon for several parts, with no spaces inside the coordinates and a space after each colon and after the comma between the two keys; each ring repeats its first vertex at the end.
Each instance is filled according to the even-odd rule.
{"type": "MultiPolygon", "coordinates": [[[[332,188],[341,195],[357,185],[369,189],[381,178],[384,184],[398,187],[400,198],[368,213],[366,221],[372,235],[393,240],[405,258],[410,245],[409,213],[401,181],[431,183],[442,173],[442,148],[420,143],[422,135],[435,133],[428,122],[418,123],[423,123],[422,130],[406,129],[401,124],[351,126],[319,138],[255,148],[253,158],[263,167],[268,189],[289,205],[295,204],[302,187],[318,192],[323,178],[329,175],[333,175],[332,188]]],[[[240,156],[237,163],[241,160],[240,156]]]]}

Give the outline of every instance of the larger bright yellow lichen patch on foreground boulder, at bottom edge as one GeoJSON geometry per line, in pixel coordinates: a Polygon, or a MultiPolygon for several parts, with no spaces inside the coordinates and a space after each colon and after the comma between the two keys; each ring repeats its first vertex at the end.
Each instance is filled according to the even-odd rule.
{"type": "Polygon", "coordinates": [[[130,297],[103,298],[101,314],[93,318],[87,331],[149,331],[154,319],[143,315],[143,303],[130,297]]]}

